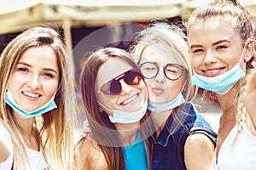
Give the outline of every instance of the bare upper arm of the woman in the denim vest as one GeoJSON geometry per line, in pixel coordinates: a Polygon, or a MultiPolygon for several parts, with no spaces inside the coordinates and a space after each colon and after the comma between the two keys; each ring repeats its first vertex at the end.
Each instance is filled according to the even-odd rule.
{"type": "Polygon", "coordinates": [[[184,161],[187,169],[211,169],[214,148],[212,140],[205,134],[190,134],[184,145],[184,161]]]}

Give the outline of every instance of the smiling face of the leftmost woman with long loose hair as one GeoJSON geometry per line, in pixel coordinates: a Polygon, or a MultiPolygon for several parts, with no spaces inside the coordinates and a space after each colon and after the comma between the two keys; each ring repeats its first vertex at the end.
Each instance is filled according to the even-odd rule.
{"type": "Polygon", "coordinates": [[[10,75],[8,89],[23,110],[35,111],[55,95],[59,78],[56,54],[52,48],[28,48],[10,75]]]}

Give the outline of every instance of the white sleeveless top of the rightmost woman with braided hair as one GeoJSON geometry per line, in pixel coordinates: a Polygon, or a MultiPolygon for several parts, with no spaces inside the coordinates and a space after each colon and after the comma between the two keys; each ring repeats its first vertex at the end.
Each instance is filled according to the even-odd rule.
{"type": "Polygon", "coordinates": [[[232,128],[218,152],[218,165],[216,165],[216,157],[214,157],[212,169],[256,169],[256,137],[244,125],[232,147],[231,144],[236,137],[236,133],[237,124],[232,128]]]}

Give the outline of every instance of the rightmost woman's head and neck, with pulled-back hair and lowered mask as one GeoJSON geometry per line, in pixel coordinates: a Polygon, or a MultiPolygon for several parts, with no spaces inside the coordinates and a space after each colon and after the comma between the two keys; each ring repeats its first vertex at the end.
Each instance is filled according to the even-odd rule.
{"type": "Polygon", "coordinates": [[[253,17],[236,1],[216,1],[195,9],[188,21],[193,84],[216,93],[223,110],[216,163],[224,140],[236,124],[235,99],[241,80],[253,68],[253,17]]]}

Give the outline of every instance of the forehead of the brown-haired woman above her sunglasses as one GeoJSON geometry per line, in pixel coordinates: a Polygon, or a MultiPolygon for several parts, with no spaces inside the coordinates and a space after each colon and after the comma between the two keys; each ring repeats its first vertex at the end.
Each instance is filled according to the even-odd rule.
{"type": "Polygon", "coordinates": [[[106,82],[109,82],[122,73],[131,70],[132,67],[125,60],[119,58],[111,58],[105,62],[98,71],[96,77],[96,87],[102,87],[106,82]]]}

